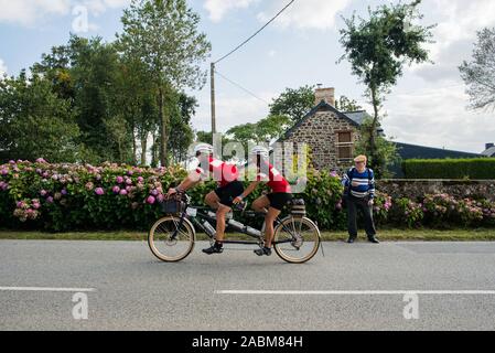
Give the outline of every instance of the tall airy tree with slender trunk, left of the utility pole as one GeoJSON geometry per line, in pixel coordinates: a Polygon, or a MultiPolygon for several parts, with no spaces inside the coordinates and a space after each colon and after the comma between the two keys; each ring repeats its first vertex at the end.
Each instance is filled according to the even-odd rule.
{"type": "Polygon", "coordinates": [[[168,165],[170,115],[164,109],[165,94],[205,84],[206,72],[200,64],[208,56],[211,44],[198,33],[200,17],[185,0],[132,0],[121,22],[120,47],[148,66],[150,83],[157,88],[160,162],[168,165]]]}

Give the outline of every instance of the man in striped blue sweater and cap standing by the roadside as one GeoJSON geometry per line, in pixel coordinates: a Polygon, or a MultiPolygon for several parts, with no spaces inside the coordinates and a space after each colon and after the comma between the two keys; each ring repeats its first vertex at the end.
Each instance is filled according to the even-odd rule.
{"type": "Polygon", "coordinates": [[[375,174],[373,170],[366,168],[366,156],[358,156],[354,159],[355,167],[351,168],[342,179],[345,188],[344,197],[347,204],[348,240],[352,244],[357,238],[356,216],[357,210],[363,211],[365,217],[365,231],[368,240],[379,244],[376,238],[376,228],[373,221],[373,205],[375,199],[375,174]]]}

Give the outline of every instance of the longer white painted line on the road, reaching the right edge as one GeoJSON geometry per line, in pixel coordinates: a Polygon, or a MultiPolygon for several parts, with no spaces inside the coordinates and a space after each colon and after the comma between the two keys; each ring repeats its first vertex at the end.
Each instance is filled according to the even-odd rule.
{"type": "Polygon", "coordinates": [[[216,290],[216,295],[245,296],[495,296],[495,290],[216,290]]]}

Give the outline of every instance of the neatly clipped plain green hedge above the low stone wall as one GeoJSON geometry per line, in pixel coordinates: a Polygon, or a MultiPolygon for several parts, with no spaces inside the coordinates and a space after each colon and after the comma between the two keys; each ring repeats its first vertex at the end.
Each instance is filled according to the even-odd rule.
{"type": "Polygon", "coordinates": [[[411,159],[402,162],[406,179],[495,179],[495,158],[411,159]]]}

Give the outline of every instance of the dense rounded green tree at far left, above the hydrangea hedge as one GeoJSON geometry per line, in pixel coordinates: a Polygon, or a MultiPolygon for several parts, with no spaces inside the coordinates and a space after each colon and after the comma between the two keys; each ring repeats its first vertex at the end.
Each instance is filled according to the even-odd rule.
{"type": "Polygon", "coordinates": [[[0,151],[2,159],[76,162],[79,129],[67,100],[40,75],[0,81],[0,151]]]}

